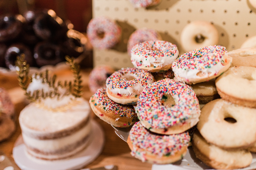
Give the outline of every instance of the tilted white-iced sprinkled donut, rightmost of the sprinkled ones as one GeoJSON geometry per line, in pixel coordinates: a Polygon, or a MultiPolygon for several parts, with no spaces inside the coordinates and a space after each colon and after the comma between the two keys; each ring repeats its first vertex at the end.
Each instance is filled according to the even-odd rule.
{"type": "Polygon", "coordinates": [[[218,77],[226,71],[232,57],[223,46],[208,46],[181,55],[172,63],[175,77],[187,84],[196,84],[218,77]]]}

